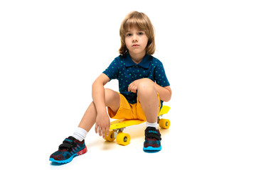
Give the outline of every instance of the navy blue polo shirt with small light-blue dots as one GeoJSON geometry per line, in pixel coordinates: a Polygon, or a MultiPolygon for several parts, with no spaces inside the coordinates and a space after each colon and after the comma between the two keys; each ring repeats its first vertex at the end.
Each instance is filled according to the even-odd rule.
{"type": "MultiPolygon", "coordinates": [[[[132,61],[129,53],[119,55],[103,73],[110,80],[118,79],[119,92],[127,98],[129,103],[137,103],[137,93],[128,91],[129,84],[137,79],[149,78],[159,86],[170,86],[163,64],[151,55],[145,55],[139,64],[132,61]]],[[[161,101],[161,106],[162,104],[163,101],[161,101]]]]}

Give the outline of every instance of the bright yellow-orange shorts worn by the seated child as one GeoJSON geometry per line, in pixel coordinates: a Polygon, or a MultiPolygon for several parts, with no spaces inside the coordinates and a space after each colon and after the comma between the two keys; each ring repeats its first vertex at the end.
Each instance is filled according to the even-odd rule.
{"type": "MultiPolygon", "coordinates": [[[[119,94],[119,96],[120,96],[120,105],[117,113],[112,111],[110,107],[107,107],[107,111],[108,111],[108,114],[110,115],[110,118],[146,120],[145,113],[142,110],[142,106],[139,103],[138,98],[137,98],[137,103],[131,104],[127,101],[127,99],[122,94],[119,94]]],[[[157,96],[159,98],[158,93],[157,93],[157,96]]],[[[161,108],[161,102],[159,98],[159,111],[160,111],[160,108],[161,108]]]]}

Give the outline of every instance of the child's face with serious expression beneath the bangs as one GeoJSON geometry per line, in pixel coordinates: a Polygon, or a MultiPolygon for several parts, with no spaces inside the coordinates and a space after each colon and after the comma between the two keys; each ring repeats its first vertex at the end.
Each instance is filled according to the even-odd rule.
{"type": "Polygon", "coordinates": [[[125,45],[132,55],[146,55],[146,45],[149,38],[143,30],[137,28],[129,28],[125,35],[125,45]]]}

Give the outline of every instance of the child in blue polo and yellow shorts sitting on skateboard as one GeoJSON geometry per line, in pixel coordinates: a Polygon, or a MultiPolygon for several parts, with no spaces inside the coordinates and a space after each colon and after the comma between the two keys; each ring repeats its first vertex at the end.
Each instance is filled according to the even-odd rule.
{"type": "Polygon", "coordinates": [[[163,101],[171,99],[171,89],[163,64],[151,56],[155,51],[154,28],[144,13],[134,11],[124,18],[119,35],[119,57],[92,84],[92,103],[73,136],[50,155],[50,161],[67,163],[87,152],[84,140],[87,132],[95,124],[95,132],[105,138],[110,118],[146,120],[143,149],[161,150],[157,115],[163,101]],[[120,93],[104,88],[111,79],[118,79],[120,93]]]}

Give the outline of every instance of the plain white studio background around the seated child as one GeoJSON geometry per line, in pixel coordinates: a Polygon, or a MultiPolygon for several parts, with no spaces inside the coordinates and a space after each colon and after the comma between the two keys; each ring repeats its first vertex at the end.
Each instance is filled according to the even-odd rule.
{"type": "MultiPolygon", "coordinates": [[[[4,169],[255,169],[254,1],[1,1],[0,113],[4,169]],[[173,95],[162,151],[142,151],[144,124],[122,147],[92,130],[87,154],[50,154],[72,135],[91,85],[118,56],[119,26],[146,13],[173,95]]],[[[117,81],[106,85],[118,90],[117,81]]]]}

